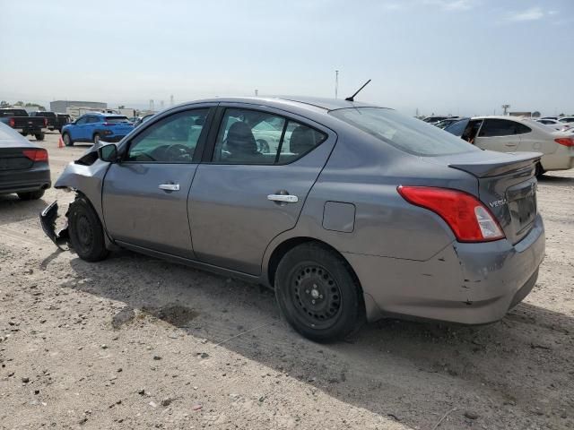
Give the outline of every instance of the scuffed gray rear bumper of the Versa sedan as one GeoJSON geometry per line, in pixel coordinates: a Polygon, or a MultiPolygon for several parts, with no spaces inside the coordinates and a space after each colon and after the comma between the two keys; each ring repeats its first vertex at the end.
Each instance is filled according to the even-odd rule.
{"type": "Polygon", "coordinates": [[[538,215],[516,245],[502,239],[453,243],[430,260],[345,254],[376,306],[368,318],[385,315],[483,324],[500,320],[535,286],[544,259],[544,223],[538,215]]]}

